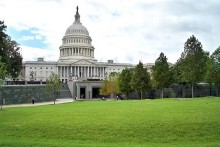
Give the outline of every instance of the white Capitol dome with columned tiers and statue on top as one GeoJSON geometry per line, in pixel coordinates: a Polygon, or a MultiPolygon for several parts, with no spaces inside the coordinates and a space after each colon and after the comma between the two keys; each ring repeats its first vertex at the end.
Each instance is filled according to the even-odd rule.
{"type": "Polygon", "coordinates": [[[94,47],[89,32],[80,22],[79,8],[76,7],[75,21],[69,26],[60,46],[60,61],[74,62],[77,60],[96,61],[94,47]]]}

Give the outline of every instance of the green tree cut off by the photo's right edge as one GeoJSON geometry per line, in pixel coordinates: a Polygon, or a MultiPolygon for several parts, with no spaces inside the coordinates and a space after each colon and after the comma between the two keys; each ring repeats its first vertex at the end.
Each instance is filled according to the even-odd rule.
{"type": "Polygon", "coordinates": [[[206,82],[216,85],[218,95],[218,85],[220,84],[220,47],[210,56],[207,62],[206,82]]]}

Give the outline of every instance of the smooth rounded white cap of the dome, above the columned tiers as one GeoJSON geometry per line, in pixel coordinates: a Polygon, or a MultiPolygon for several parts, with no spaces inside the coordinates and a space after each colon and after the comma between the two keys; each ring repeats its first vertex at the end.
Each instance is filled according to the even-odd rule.
{"type": "Polygon", "coordinates": [[[86,27],[84,27],[81,23],[79,22],[74,22],[71,26],[69,26],[66,30],[65,35],[71,35],[71,34],[84,34],[84,35],[89,35],[88,30],[86,27]]]}

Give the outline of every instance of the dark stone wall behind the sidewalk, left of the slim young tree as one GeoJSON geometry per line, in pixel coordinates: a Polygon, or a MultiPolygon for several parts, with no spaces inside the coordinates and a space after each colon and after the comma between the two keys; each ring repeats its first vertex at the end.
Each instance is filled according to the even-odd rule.
{"type": "Polygon", "coordinates": [[[5,104],[31,103],[30,95],[36,102],[53,101],[54,95],[45,91],[45,85],[3,85],[1,87],[1,99],[5,104]]]}

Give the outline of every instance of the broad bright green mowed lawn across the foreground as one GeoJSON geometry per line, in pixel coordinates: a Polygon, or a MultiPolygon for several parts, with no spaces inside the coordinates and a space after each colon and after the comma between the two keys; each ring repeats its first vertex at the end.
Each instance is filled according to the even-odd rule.
{"type": "Polygon", "coordinates": [[[220,98],[4,108],[0,146],[220,146],[220,98]]]}

